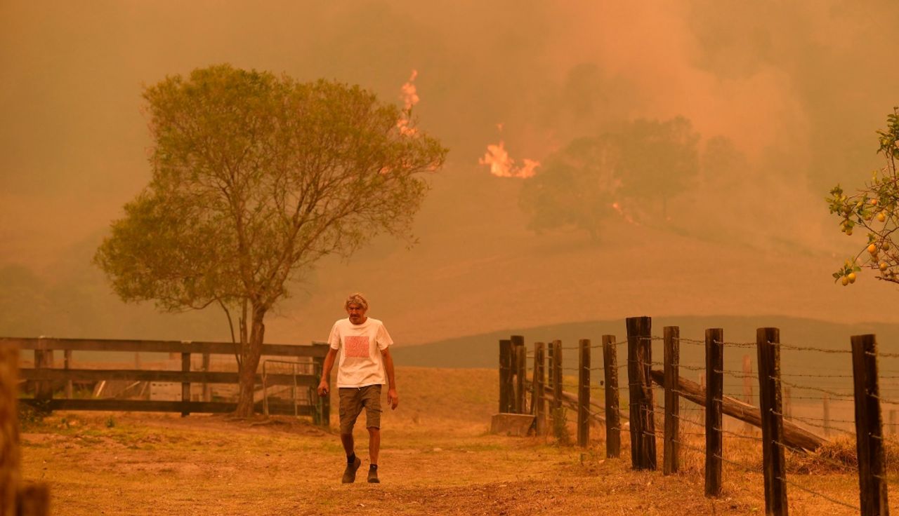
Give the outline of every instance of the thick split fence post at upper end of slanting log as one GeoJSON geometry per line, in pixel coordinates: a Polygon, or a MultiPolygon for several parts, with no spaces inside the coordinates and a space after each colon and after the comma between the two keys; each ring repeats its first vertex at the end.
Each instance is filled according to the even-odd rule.
{"type": "Polygon", "coordinates": [[[629,317],[628,391],[630,394],[630,457],[634,469],[655,469],[655,419],[652,367],[652,319],[629,317]]]}

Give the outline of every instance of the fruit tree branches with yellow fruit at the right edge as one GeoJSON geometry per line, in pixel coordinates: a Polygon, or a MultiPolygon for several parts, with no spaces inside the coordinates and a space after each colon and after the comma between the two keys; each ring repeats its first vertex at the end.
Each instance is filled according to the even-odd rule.
{"type": "Polygon", "coordinates": [[[877,279],[899,283],[899,252],[895,232],[899,230],[899,176],[896,159],[899,158],[899,108],[886,117],[886,129],[877,131],[879,146],[885,166],[874,171],[871,182],[855,194],[847,195],[840,185],[832,188],[827,203],[831,214],[841,219],[841,231],[852,235],[856,226],[866,230],[868,241],[855,258],[849,258],[840,270],[833,273],[835,281],[843,285],[855,283],[856,273],[862,267],[877,271],[877,279]]]}

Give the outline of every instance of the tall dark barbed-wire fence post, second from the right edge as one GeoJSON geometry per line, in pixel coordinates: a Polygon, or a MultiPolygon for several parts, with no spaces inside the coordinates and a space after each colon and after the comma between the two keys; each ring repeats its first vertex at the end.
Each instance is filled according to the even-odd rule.
{"type": "Polygon", "coordinates": [[[755,332],[759,364],[761,450],[765,485],[765,514],[787,516],[787,467],[783,449],[783,413],[780,398],[780,330],[755,332]]]}

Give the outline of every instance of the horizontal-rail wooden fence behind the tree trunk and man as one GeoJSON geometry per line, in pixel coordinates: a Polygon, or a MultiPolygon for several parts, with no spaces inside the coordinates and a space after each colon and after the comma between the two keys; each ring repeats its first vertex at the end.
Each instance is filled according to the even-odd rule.
{"type": "MultiPolygon", "coordinates": [[[[209,384],[238,383],[235,371],[209,371],[209,357],[224,354],[235,357],[238,345],[221,342],[179,342],[154,340],[102,340],[76,338],[0,338],[0,348],[33,350],[34,362],[31,368],[21,368],[20,380],[33,382],[34,397],[21,398],[20,402],[43,410],[120,410],[143,412],[227,413],[236,409],[236,401],[213,401],[209,396],[201,400],[191,400],[191,384],[200,384],[208,392],[209,384]],[[61,351],[63,366],[54,367],[54,352],[61,351]],[[118,353],[167,353],[181,355],[181,371],[161,371],[147,369],[76,369],[72,367],[74,352],[118,352],[118,353]],[[200,371],[191,371],[191,355],[202,356],[200,371]],[[153,399],[97,399],[73,398],[74,382],[110,380],[130,380],[146,382],[181,383],[180,400],[153,399]],[[63,398],[56,395],[62,390],[63,398]]],[[[288,357],[297,363],[305,361],[305,371],[290,373],[257,373],[257,386],[290,386],[293,388],[294,402],[273,401],[268,398],[255,403],[257,411],[267,414],[309,415],[316,424],[328,425],[330,419],[330,395],[319,397],[316,386],[321,378],[322,365],[328,352],[326,344],[313,345],[263,345],[265,356],[288,357]],[[299,405],[296,389],[306,389],[307,403],[299,405]]],[[[282,361],[272,361],[282,362],[282,361]]],[[[236,359],[235,359],[236,369],[236,359]]]]}

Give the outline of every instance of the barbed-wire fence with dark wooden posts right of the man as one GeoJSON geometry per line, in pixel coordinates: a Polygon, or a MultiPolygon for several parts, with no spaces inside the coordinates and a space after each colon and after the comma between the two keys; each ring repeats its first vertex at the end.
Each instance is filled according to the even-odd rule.
{"type": "MultiPolygon", "coordinates": [[[[547,434],[547,400],[553,407],[565,405],[577,414],[577,442],[587,446],[591,422],[605,427],[606,456],[618,457],[620,453],[619,412],[619,369],[627,369],[628,380],[628,431],[630,434],[631,464],[635,469],[656,469],[656,438],[663,438],[663,474],[670,475],[680,468],[679,456],[684,448],[692,449],[705,456],[705,494],[717,497],[722,494],[723,463],[756,471],[752,465],[725,459],[724,441],[726,434],[746,437],[725,429],[724,415],[743,421],[744,428],[761,428],[762,468],[756,471],[764,482],[765,513],[782,516],[788,513],[788,486],[814,494],[830,503],[859,511],[862,516],[888,516],[886,484],[885,435],[881,403],[899,405],[881,395],[877,359],[899,358],[899,354],[884,354],[877,351],[877,340],[873,335],[851,337],[850,348],[841,350],[821,349],[812,346],[787,345],[780,343],[778,328],[759,328],[752,343],[726,342],[723,328],[709,328],[704,339],[683,338],[678,327],[665,327],[663,337],[653,337],[651,319],[648,317],[627,319],[627,339],[617,342],[614,336],[602,336],[601,345],[591,345],[582,339],[577,346],[565,347],[560,341],[550,343],[548,363],[544,360],[545,343],[534,344],[531,379],[527,380],[527,369],[523,365],[529,355],[526,353],[521,336],[500,341],[500,410],[518,414],[534,415],[532,431],[537,435],[547,434]],[[653,361],[652,344],[663,343],[663,362],[653,361]],[[704,347],[705,363],[699,367],[689,367],[680,363],[681,343],[704,347]],[[628,362],[618,365],[617,347],[627,345],[628,362]],[[729,348],[754,348],[758,363],[758,375],[753,375],[748,356],[743,357],[743,371],[725,369],[725,350],[729,348]],[[591,366],[591,351],[601,348],[602,366],[591,366]],[[576,395],[563,389],[562,354],[565,349],[578,353],[576,395]],[[783,380],[781,378],[781,351],[791,353],[845,353],[851,354],[853,381],[851,393],[838,393],[809,385],[783,380]],[[653,369],[661,366],[661,369],[653,369]],[[701,371],[700,382],[682,378],[681,369],[701,371]],[[549,371],[545,383],[545,372],[549,371]],[[591,372],[603,371],[600,389],[604,391],[604,404],[591,400],[591,393],[597,390],[591,385],[591,372]],[[743,380],[743,399],[725,396],[725,374],[743,380]],[[758,381],[759,406],[753,406],[752,380],[758,381]],[[521,387],[516,387],[521,383],[521,387]],[[654,401],[653,384],[664,392],[664,405],[654,401]],[[785,386],[786,389],[785,389],[785,386]],[[811,389],[823,392],[823,419],[790,414],[789,388],[811,389]],[[526,394],[530,392],[530,406],[526,394]],[[786,396],[785,396],[786,395],[786,396]],[[801,485],[788,479],[786,452],[805,453],[820,448],[827,442],[826,433],[833,430],[830,420],[829,403],[832,397],[851,399],[854,404],[854,432],[842,431],[856,437],[859,469],[859,504],[837,500],[829,494],[815,491],[813,487],[801,485]],[[691,422],[681,416],[681,399],[698,406],[704,422],[691,422]],[[656,410],[663,413],[663,432],[655,430],[656,410]],[[802,424],[797,424],[797,421],[802,424]],[[681,437],[681,423],[689,422],[703,427],[705,446],[693,446],[681,437]],[[825,436],[817,435],[804,426],[822,428],[825,436]]],[[[789,376],[789,375],[788,375],[789,376]]],[[[817,376],[827,378],[827,373],[797,373],[793,376],[817,376]]],[[[895,377],[892,377],[895,378],[895,377]]],[[[555,417],[563,417],[562,411],[553,411],[555,417]]],[[[895,423],[895,411],[890,412],[891,424],[895,423]]],[[[563,419],[564,422],[564,419],[563,419]]],[[[557,422],[553,427],[558,426],[557,422]]],[[[895,428],[894,428],[895,432],[895,428]]],[[[838,464],[844,468],[845,464],[838,464]]]]}

